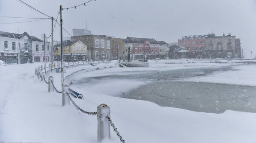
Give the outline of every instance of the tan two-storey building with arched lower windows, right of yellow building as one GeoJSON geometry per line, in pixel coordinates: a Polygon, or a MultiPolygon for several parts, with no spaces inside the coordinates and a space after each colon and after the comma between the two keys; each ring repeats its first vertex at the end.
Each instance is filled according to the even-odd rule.
{"type": "Polygon", "coordinates": [[[83,35],[71,37],[71,40],[81,40],[81,42],[87,45],[89,60],[110,59],[112,54],[110,48],[111,39],[111,37],[105,35],[83,35]]]}

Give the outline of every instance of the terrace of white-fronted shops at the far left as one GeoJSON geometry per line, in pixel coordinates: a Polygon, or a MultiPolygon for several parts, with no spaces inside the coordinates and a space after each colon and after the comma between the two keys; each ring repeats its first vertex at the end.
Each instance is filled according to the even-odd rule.
{"type": "MultiPolygon", "coordinates": [[[[45,59],[49,61],[49,42],[46,44],[47,51],[45,59]]],[[[44,42],[35,36],[29,36],[27,32],[15,34],[0,31],[0,60],[3,60],[7,64],[44,62],[44,49],[44,42]]]]}

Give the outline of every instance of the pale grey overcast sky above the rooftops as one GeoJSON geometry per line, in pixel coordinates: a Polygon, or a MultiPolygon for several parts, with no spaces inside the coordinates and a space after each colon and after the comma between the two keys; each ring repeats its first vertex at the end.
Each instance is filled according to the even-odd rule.
{"type": "MultiPolygon", "coordinates": [[[[88,0],[23,0],[57,18],[59,6],[76,6],[88,0]]],[[[17,0],[0,0],[0,16],[46,17],[17,0]]],[[[46,17],[47,18],[47,17],[46,17]]],[[[63,11],[64,28],[86,28],[92,34],[120,38],[128,36],[177,42],[185,35],[231,33],[241,39],[244,56],[256,56],[256,0],[96,0],[76,9],[63,11]]],[[[0,23],[29,21],[0,17],[0,23]]],[[[59,18],[58,18],[59,21],[59,18]]],[[[51,33],[51,20],[0,24],[0,31],[23,33],[41,38],[51,33]]],[[[69,36],[64,32],[64,36],[69,36]]],[[[56,25],[54,39],[60,39],[56,25]]]]}

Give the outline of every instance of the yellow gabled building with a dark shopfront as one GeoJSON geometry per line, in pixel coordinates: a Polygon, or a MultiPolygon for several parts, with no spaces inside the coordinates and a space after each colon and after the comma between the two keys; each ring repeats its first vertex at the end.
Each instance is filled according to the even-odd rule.
{"type": "MultiPolygon", "coordinates": [[[[70,41],[66,40],[62,42],[63,47],[63,60],[65,62],[76,62],[87,60],[87,46],[80,40],[70,41]]],[[[54,46],[54,59],[60,60],[61,58],[61,43],[57,43],[54,46]],[[58,47],[57,47],[58,46],[58,47]]]]}

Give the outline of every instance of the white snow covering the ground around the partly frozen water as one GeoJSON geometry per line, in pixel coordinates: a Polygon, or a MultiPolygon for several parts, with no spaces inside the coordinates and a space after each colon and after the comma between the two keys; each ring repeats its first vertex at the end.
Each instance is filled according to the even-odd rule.
{"type": "MultiPolygon", "coordinates": [[[[245,84],[255,81],[255,76],[252,77],[256,72],[254,65],[240,65],[234,61],[189,63],[189,61],[176,60],[175,63],[179,64],[165,64],[170,62],[169,60],[149,62],[149,67],[137,68],[120,68],[113,63],[74,67],[66,69],[64,75],[67,76],[83,69],[85,69],[83,71],[93,70],[96,67],[106,67],[106,69],[74,74],[69,76],[65,82],[67,84],[74,78],[122,75],[128,72],[133,74],[136,71],[174,69],[182,71],[184,68],[220,66],[235,66],[235,70],[226,73],[218,72],[206,78],[187,80],[206,79],[207,82],[219,81],[228,84],[245,84]],[[109,68],[111,66],[113,68],[109,68]]],[[[61,94],[48,93],[48,85],[35,76],[35,67],[38,65],[19,64],[0,67],[0,141],[4,143],[97,143],[96,116],[84,115],[71,104],[61,107],[61,94]]],[[[60,74],[52,72],[52,76],[57,88],[61,89],[60,74]]],[[[101,88],[106,88],[107,92],[113,87],[123,86],[121,83],[122,81],[119,81],[113,83],[112,86],[102,83],[101,88]]],[[[138,85],[140,84],[143,83],[138,83],[138,85]]],[[[250,85],[255,86],[255,84],[250,85]]],[[[76,91],[84,96],[83,100],[74,98],[74,101],[82,109],[95,112],[96,107],[102,103],[111,107],[111,119],[126,143],[256,143],[255,113],[192,112],[184,109],[160,107],[148,101],[93,93],[88,90],[76,89],[76,91]]],[[[119,143],[119,139],[112,129],[111,140],[107,142],[119,143]]]]}

